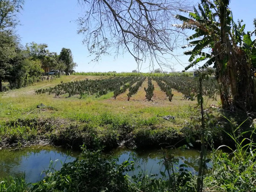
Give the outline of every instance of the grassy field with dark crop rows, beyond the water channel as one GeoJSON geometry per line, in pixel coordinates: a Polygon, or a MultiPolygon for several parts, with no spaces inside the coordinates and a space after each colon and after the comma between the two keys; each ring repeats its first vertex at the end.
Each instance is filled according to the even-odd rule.
{"type": "MultiPolygon", "coordinates": [[[[71,75],[3,93],[0,142],[23,146],[44,141],[74,148],[100,142],[109,149],[176,144],[188,134],[184,127],[200,116],[197,82],[183,77],[186,83],[179,86],[178,81],[170,84],[170,79],[159,78],[71,75]],[[148,86],[154,86],[151,99],[145,96],[148,86]],[[173,94],[172,101],[166,90],[173,94]]],[[[216,93],[205,97],[205,105],[218,105],[209,96],[215,98],[216,93]]]]}

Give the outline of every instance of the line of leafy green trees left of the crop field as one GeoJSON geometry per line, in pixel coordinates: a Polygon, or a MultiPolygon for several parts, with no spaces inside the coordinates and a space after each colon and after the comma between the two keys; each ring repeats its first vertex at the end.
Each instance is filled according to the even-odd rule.
{"type": "Polygon", "coordinates": [[[62,48],[60,54],[50,52],[47,44],[31,42],[24,48],[14,33],[18,24],[16,13],[22,9],[23,0],[0,1],[0,92],[3,82],[10,89],[27,86],[49,70],[66,74],[73,72],[76,63],[70,49],[62,48]]]}

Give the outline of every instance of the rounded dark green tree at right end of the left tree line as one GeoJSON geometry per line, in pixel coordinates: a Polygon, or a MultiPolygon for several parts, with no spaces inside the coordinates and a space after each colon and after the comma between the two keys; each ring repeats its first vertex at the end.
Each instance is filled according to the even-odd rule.
{"type": "Polygon", "coordinates": [[[72,52],[70,49],[62,48],[59,54],[59,61],[65,64],[65,73],[68,75],[72,73],[74,68],[77,66],[76,63],[73,61],[72,52]]]}

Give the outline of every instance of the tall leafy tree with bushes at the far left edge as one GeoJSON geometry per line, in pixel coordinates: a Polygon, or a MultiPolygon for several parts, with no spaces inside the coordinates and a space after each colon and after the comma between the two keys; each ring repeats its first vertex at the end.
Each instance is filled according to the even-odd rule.
{"type": "Polygon", "coordinates": [[[41,73],[38,65],[24,61],[27,54],[13,33],[18,23],[16,13],[22,9],[22,4],[22,0],[0,1],[0,92],[3,91],[2,81],[8,81],[11,89],[20,88],[33,83],[41,73]]]}

